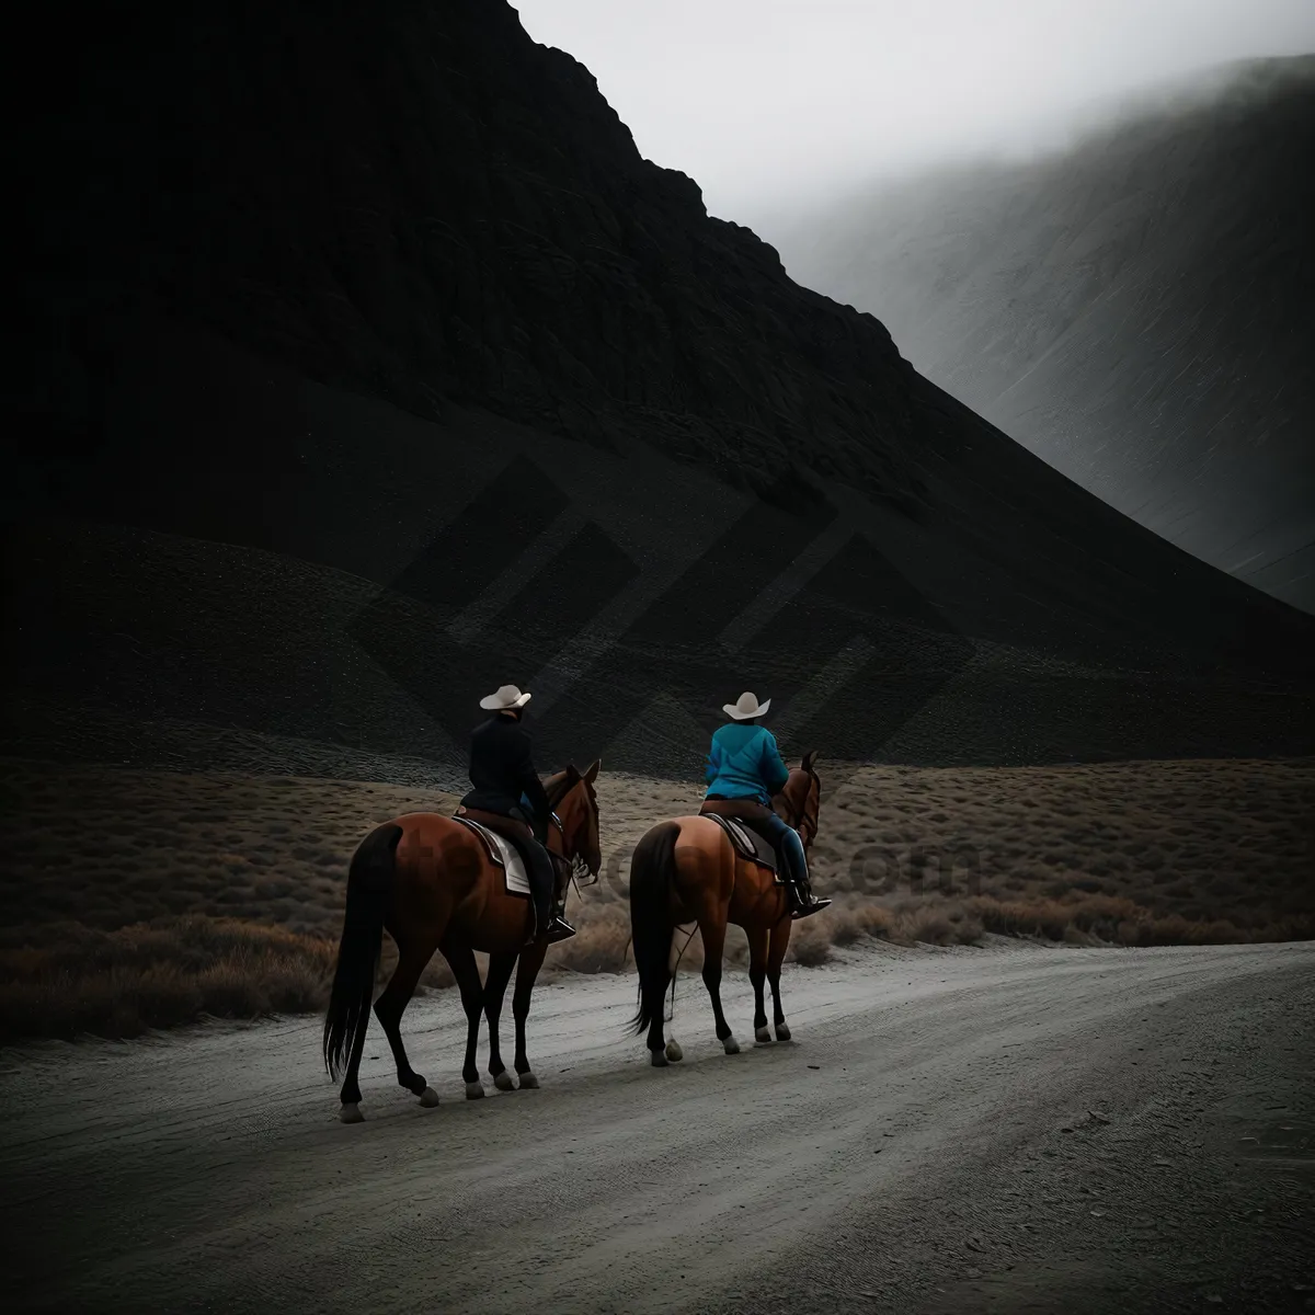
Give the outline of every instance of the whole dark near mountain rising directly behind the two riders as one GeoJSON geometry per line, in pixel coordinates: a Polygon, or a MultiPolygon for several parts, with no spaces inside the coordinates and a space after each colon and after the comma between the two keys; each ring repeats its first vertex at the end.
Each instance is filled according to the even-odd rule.
{"type": "Polygon", "coordinates": [[[451,764],[505,680],[544,760],[671,775],[746,686],[832,759],[1307,742],[1315,621],[793,284],[506,5],[42,16],[11,746],[451,764]]]}

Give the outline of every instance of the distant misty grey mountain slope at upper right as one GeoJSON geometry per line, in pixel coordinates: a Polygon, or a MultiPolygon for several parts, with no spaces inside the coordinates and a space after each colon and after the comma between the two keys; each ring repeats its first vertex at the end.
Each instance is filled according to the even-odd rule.
{"type": "Polygon", "coordinates": [[[777,234],[931,379],[1205,560],[1315,610],[1315,57],[1055,156],[777,234]]]}

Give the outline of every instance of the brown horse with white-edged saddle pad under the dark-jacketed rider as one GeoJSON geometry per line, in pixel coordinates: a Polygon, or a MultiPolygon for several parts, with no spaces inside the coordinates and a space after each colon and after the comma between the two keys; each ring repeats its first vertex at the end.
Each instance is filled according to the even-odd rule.
{"type": "MultiPolygon", "coordinates": [[[[544,782],[554,813],[548,848],[576,872],[586,869],[592,874],[602,863],[593,790],[597,775],[594,763],[583,775],[568,767],[544,782]]],[[[539,928],[526,944],[533,930],[533,902],[508,893],[502,869],[463,823],[437,813],[408,813],[375,827],[360,842],[347,876],[347,911],[323,1034],[329,1076],[337,1081],[341,1072],[346,1073],[339,1112],[343,1123],[362,1119],[358,1072],[384,931],[397,943],[397,968],[375,1002],[375,1014],[393,1049],[397,1081],[418,1095],[421,1105],[438,1105],[438,1093],[406,1060],[401,1018],[435,949],[452,968],[469,1024],[462,1069],[467,1098],[484,1095],[475,1064],[481,1010],[489,1020],[489,1076],[500,1091],[515,1085],[498,1052],[498,1016],[517,960],[521,967],[512,997],[515,1072],[522,1088],[539,1085],[525,1053],[525,1019],[548,942],[539,928]],[[476,949],[489,956],[483,986],[476,949]]]]}

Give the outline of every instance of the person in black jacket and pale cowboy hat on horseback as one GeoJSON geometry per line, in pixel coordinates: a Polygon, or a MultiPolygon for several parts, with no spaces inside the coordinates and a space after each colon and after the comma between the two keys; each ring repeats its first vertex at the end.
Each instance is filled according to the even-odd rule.
{"type": "Polygon", "coordinates": [[[539,926],[547,928],[548,940],[565,940],[575,935],[556,905],[556,867],[547,849],[548,822],[552,806],[534,769],[530,735],[521,723],[530,696],[514,685],[504,685],[496,694],[480,700],[480,707],[493,715],[475,727],[471,735],[471,785],[462,807],[487,813],[519,823],[498,827],[525,857],[539,926]]]}

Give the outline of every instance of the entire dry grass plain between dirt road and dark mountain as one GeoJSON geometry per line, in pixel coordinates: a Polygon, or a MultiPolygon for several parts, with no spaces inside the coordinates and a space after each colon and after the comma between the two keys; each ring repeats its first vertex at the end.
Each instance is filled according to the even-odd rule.
{"type": "MultiPolygon", "coordinates": [[[[398,813],[455,805],[387,784],[14,760],[0,781],[8,1038],[320,1009],[356,843],[398,813]]],[[[547,974],[629,965],[629,853],[700,796],[693,784],[600,778],[604,876],[572,894],[580,934],[550,951],[547,974]]],[[[814,884],[835,905],[796,928],[792,957],[825,963],[869,936],[1311,938],[1312,819],[1311,760],[861,768],[825,796],[814,884]]],[[[747,961],[736,928],[727,959],[747,961]]],[[[384,972],[392,961],[385,944],[384,972]]],[[[681,963],[701,967],[697,935],[681,963]]],[[[441,959],[425,984],[451,984],[441,959]]]]}

